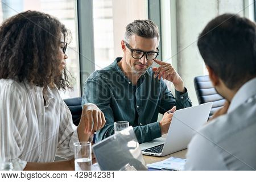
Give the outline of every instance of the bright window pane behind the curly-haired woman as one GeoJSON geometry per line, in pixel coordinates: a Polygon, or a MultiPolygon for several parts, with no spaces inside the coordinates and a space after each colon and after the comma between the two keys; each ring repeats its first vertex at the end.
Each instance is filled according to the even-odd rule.
{"type": "Polygon", "coordinates": [[[79,53],[77,39],[76,0],[2,0],[0,2],[0,22],[17,13],[27,10],[42,11],[55,16],[71,31],[72,42],[68,45],[66,54],[67,69],[75,78],[71,78],[73,90],[61,92],[61,97],[80,96],[79,53]]]}

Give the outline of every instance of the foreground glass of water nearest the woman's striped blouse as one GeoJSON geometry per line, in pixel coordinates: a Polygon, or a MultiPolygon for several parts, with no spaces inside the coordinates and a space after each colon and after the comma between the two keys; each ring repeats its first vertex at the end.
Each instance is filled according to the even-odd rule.
{"type": "Polygon", "coordinates": [[[92,144],[90,142],[76,142],[75,170],[90,171],[92,169],[92,144]]]}

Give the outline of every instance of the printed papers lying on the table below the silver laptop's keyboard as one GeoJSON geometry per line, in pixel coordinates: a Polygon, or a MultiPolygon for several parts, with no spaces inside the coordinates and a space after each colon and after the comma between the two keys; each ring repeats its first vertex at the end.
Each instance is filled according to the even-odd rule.
{"type": "Polygon", "coordinates": [[[182,171],[184,170],[185,163],[186,159],[171,157],[157,163],[147,164],[147,167],[148,169],[182,171]]]}

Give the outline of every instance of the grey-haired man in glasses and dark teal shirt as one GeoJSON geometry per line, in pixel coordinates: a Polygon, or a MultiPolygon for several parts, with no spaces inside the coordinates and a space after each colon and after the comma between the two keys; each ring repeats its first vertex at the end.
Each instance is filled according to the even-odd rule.
{"type": "Polygon", "coordinates": [[[168,132],[172,112],[192,106],[172,65],[156,60],[158,45],[158,27],[151,20],[135,20],[126,26],[121,42],[123,57],[93,72],[85,81],[82,105],[96,104],[106,118],[105,126],[96,134],[97,141],[114,134],[116,121],[129,121],[139,143],[161,137],[168,132]],[[154,61],[159,68],[151,67],[154,61]],[[176,97],[164,79],[174,84],[176,97]],[[164,114],[160,122],[158,113],[164,114]]]}

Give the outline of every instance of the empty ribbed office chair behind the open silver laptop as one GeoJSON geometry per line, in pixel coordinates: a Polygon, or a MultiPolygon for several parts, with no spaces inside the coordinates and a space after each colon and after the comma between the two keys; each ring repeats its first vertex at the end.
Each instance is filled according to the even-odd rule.
{"type": "Polygon", "coordinates": [[[211,117],[224,105],[225,99],[216,92],[208,75],[195,77],[194,85],[199,104],[213,102],[209,115],[211,117]]]}

